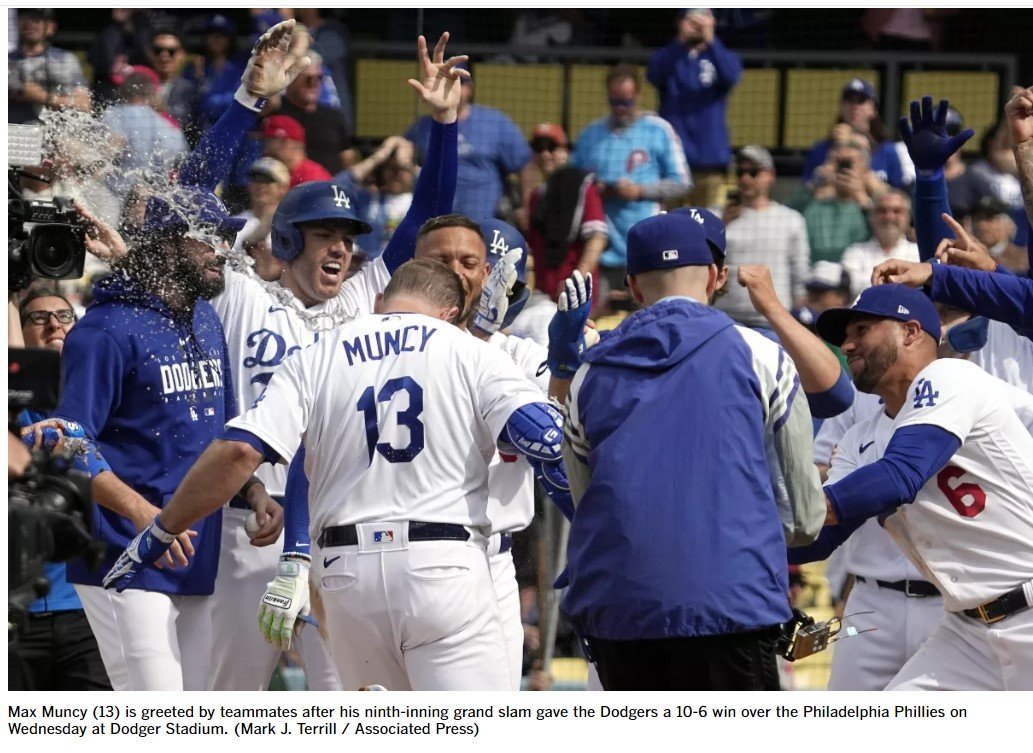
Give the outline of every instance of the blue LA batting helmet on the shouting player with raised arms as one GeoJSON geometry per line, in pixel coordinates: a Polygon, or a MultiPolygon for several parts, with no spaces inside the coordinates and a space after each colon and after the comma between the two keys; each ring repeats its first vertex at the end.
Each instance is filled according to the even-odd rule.
{"type": "Polygon", "coordinates": [[[298,256],[305,247],[299,225],[319,220],[348,222],[356,236],[373,229],[355,214],[354,199],[342,186],[330,181],[303,183],[283,197],[273,215],[273,255],[281,261],[298,256]]]}

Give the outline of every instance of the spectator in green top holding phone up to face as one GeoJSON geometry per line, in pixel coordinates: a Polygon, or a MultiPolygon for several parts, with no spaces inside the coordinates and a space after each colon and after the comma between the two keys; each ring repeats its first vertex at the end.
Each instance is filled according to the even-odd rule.
{"type": "Polygon", "coordinates": [[[885,188],[872,175],[868,159],[868,144],[856,136],[837,145],[811,183],[790,200],[807,223],[811,263],[839,262],[847,246],[868,240],[865,213],[872,207],[872,194],[885,188]]]}

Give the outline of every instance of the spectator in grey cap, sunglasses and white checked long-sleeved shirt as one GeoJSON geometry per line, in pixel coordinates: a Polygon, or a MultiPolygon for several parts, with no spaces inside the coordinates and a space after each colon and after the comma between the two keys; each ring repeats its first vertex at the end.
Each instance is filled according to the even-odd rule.
{"type": "MultiPolygon", "coordinates": [[[[802,303],[811,263],[807,226],[795,210],[771,199],[775,162],[762,147],[744,147],[735,155],[741,203],[724,213],[725,253],[729,264],[765,264],[772,287],[786,309],[802,303]]],[[[750,293],[741,285],[725,286],[726,294],[714,303],[735,321],[768,328],[768,320],[753,308],[750,293]]]]}

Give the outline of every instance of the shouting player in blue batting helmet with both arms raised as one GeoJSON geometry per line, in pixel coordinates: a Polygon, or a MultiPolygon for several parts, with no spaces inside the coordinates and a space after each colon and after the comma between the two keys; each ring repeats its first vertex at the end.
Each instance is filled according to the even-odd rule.
{"type": "MultiPolygon", "coordinates": [[[[229,343],[230,365],[240,405],[253,403],[273,372],[292,352],[316,340],[334,324],[373,310],[376,294],[386,285],[392,272],[412,255],[417,228],[429,217],[448,212],[456,184],[459,101],[458,76],[452,66],[465,56],[444,60],[447,35],[442,35],[428,55],[419,38],[419,61],[425,81],[410,82],[432,111],[434,126],[427,163],[416,184],[412,206],[384,253],[345,280],[355,236],[370,231],[352,209],[345,190],[327,182],[307,183],[291,190],[273,217],[273,254],[284,262],[279,281],[264,283],[253,275],[231,266],[226,272],[226,290],[213,301],[229,343]]],[[[191,157],[185,168],[199,177],[199,156],[225,150],[212,144],[217,138],[231,142],[233,133],[250,117],[229,113],[220,121],[239,117],[242,125],[219,124],[191,157]]],[[[209,165],[211,172],[219,167],[209,165]]],[[[211,181],[211,178],[207,180],[211,181]]],[[[258,472],[265,489],[282,499],[286,468],[262,466],[258,472]]],[[[280,548],[251,545],[244,523],[251,511],[241,495],[224,510],[222,557],[216,584],[214,632],[217,639],[211,663],[212,690],[262,690],[279,658],[276,650],[254,629],[254,603],[261,597],[271,572],[277,569],[280,548]],[[232,636],[231,639],[228,636],[232,636]]],[[[300,640],[309,687],[335,690],[340,685],[328,656],[315,631],[300,640]]]]}

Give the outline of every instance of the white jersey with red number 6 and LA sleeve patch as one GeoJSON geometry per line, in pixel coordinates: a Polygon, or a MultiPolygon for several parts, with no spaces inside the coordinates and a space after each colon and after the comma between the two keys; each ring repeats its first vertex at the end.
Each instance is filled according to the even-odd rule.
{"type": "Polygon", "coordinates": [[[922,425],[962,445],[883,525],[959,611],[1033,579],[1033,396],[940,358],[915,377],[894,419],[895,431],[922,425]]]}

